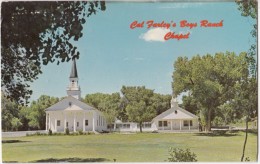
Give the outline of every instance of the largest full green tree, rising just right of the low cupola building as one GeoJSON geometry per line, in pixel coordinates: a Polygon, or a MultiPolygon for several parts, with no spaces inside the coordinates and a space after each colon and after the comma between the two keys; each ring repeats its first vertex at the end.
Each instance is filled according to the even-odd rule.
{"type": "Polygon", "coordinates": [[[194,56],[191,60],[179,57],[174,63],[173,90],[175,94],[189,91],[201,109],[206,131],[219,105],[234,97],[234,85],[248,76],[246,54],[216,53],[194,56]]]}

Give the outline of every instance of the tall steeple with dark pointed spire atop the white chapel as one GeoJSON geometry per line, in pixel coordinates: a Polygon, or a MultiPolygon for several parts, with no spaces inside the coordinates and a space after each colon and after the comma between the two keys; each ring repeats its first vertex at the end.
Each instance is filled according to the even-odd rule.
{"type": "Polygon", "coordinates": [[[73,96],[76,99],[80,100],[81,91],[78,85],[78,72],[77,72],[77,65],[75,59],[72,60],[72,67],[71,67],[69,79],[70,79],[70,84],[69,87],[67,88],[68,96],[73,96]]]}

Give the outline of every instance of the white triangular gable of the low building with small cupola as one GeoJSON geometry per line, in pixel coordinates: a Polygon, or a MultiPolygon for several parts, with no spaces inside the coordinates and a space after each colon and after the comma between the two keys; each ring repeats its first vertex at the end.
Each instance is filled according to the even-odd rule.
{"type": "Polygon", "coordinates": [[[185,109],[182,109],[178,106],[174,106],[165,112],[161,113],[160,115],[156,116],[152,121],[158,119],[197,119],[198,116],[188,112],[185,109]],[[177,111],[177,113],[175,113],[177,111]]]}

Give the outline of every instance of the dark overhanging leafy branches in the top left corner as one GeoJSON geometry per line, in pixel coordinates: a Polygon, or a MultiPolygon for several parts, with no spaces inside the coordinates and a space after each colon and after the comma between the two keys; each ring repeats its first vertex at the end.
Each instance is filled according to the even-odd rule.
{"type": "Polygon", "coordinates": [[[42,64],[79,58],[72,40],[83,36],[86,17],[105,10],[105,2],[17,1],[1,9],[1,86],[8,98],[24,103],[42,64]]]}

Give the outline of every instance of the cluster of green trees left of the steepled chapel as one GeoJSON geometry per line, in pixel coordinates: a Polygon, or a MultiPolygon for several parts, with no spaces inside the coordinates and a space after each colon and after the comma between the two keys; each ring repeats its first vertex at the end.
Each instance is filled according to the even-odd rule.
{"type": "Polygon", "coordinates": [[[4,94],[2,100],[2,130],[39,130],[45,128],[45,109],[57,103],[59,98],[46,95],[32,101],[30,106],[22,106],[8,99],[4,94]]]}

